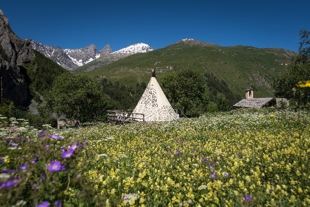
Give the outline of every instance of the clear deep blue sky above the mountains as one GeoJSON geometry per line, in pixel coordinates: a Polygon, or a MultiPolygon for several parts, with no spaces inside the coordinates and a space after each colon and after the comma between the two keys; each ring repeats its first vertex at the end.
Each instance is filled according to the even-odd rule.
{"type": "MultiPolygon", "coordinates": [[[[1,0],[2,1],[2,0],[1,0]]],[[[194,38],[222,46],[298,50],[309,0],[3,0],[20,38],[61,48],[143,42],[154,49],[194,38]]]]}

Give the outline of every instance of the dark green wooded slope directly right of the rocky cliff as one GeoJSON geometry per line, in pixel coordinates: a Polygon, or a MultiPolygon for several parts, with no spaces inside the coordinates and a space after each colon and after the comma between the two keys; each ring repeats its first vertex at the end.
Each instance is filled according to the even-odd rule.
{"type": "Polygon", "coordinates": [[[51,59],[45,57],[42,53],[33,50],[35,57],[32,60],[28,60],[24,65],[28,75],[28,84],[32,95],[35,95],[34,91],[40,93],[51,89],[54,79],[68,71],[51,59]]]}

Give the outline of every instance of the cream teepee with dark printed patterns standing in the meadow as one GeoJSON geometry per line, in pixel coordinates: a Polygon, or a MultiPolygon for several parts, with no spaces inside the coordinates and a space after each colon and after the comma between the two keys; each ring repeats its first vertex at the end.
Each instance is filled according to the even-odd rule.
{"type": "MultiPolygon", "coordinates": [[[[156,70],[152,69],[152,77],[146,86],[133,113],[143,113],[144,121],[171,121],[178,119],[178,116],[170,105],[166,95],[155,78],[156,70]]],[[[133,114],[137,120],[143,121],[143,115],[133,114]]]]}

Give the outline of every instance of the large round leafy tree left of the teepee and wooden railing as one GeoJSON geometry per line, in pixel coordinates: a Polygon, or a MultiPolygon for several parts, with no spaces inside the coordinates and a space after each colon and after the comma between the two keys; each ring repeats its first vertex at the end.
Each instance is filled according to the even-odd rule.
{"type": "Polygon", "coordinates": [[[99,82],[87,74],[63,73],[47,95],[47,107],[53,112],[80,121],[104,120],[107,101],[99,82]]]}

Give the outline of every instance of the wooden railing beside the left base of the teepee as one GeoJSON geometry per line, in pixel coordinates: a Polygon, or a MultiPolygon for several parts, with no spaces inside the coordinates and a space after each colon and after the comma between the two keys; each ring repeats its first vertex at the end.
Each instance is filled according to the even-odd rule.
{"type": "Polygon", "coordinates": [[[144,113],[133,113],[132,110],[107,110],[109,122],[125,123],[144,121],[144,113]]]}

